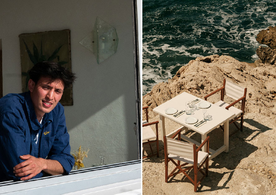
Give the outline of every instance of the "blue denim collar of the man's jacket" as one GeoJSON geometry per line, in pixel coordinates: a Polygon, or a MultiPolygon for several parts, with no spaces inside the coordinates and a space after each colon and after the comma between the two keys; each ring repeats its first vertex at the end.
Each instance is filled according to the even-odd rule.
{"type": "Polygon", "coordinates": [[[26,104],[30,124],[31,124],[31,127],[33,130],[38,130],[42,126],[44,126],[46,123],[51,123],[53,121],[53,115],[52,115],[52,112],[50,112],[50,113],[44,114],[41,124],[38,122],[38,120],[36,118],[35,111],[34,111],[30,91],[25,93],[25,104],[26,104]]]}

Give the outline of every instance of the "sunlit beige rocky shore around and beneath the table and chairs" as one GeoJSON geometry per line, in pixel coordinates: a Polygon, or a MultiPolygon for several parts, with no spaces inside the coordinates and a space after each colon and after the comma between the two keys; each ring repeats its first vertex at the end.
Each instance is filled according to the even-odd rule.
{"type": "MultiPolygon", "coordinates": [[[[247,87],[244,129],[230,137],[228,153],[210,160],[209,176],[203,180],[199,194],[276,194],[276,27],[268,29],[257,36],[257,41],[268,47],[257,49],[260,59],[255,63],[240,62],[228,55],[198,57],[182,66],[168,82],[158,83],[143,96],[143,106],[149,106],[149,122],[153,122],[159,116],[152,109],[184,91],[203,98],[220,88],[224,78],[247,87]]],[[[208,99],[213,103],[218,100],[219,93],[208,99]]],[[[180,127],[170,120],[165,123],[166,133],[180,127]]],[[[234,128],[229,126],[230,132],[234,128]]],[[[186,134],[200,141],[196,133],[186,134]]],[[[223,144],[219,128],[210,137],[211,148],[223,144]]],[[[143,194],[193,194],[193,184],[184,175],[165,183],[162,142],[159,150],[159,158],[143,160],[143,194]]],[[[149,148],[144,147],[143,153],[147,152],[149,148]]]]}

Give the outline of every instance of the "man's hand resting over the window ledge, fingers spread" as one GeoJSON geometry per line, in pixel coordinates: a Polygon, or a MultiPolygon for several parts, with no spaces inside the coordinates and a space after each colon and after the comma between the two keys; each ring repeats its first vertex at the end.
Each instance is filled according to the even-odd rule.
{"type": "Polygon", "coordinates": [[[22,177],[20,180],[31,179],[45,169],[46,164],[43,158],[36,158],[29,154],[20,156],[19,158],[25,161],[13,167],[13,172],[16,177],[22,177]],[[28,176],[24,177],[26,175],[28,176]]]}

